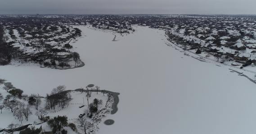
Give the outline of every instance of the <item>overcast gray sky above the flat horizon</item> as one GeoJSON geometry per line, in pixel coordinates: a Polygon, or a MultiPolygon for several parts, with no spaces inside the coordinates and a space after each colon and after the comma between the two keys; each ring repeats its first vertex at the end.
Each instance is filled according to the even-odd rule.
{"type": "Polygon", "coordinates": [[[0,0],[0,14],[256,14],[256,0],[0,0]]]}

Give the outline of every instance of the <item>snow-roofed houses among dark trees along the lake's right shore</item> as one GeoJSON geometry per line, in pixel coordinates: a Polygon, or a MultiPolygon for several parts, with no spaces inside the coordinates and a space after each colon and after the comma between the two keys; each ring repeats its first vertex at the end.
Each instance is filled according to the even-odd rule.
{"type": "MultiPolygon", "coordinates": [[[[187,21],[193,21],[189,18],[187,21]]],[[[200,22],[197,25],[181,23],[166,27],[169,40],[184,49],[200,49],[223,59],[256,62],[254,17],[200,16],[194,21],[200,22]]]]}

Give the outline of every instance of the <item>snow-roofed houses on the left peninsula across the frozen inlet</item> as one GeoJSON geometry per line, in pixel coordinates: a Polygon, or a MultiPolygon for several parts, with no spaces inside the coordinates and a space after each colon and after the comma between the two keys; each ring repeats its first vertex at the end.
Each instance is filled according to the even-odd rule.
{"type": "Polygon", "coordinates": [[[49,18],[42,19],[45,20],[44,24],[41,23],[42,20],[33,24],[27,21],[20,22],[22,25],[16,25],[15,19],[13,22],[1,22],[4,28],[3,40],[13,46],[14,60],[22,63],[37,62],[42,66],[44,63],[47,63],[47,66],[54,63],[55,67],[58,67],[58,63],[64,62],[68,65],[73,61],[71,46],[67,47],[65,44],[74,42],[81,36],[80,29],[65,25],[63,22],[57,22],[57,25],[56,22],[46,21],[47,19],[49,18]]]}

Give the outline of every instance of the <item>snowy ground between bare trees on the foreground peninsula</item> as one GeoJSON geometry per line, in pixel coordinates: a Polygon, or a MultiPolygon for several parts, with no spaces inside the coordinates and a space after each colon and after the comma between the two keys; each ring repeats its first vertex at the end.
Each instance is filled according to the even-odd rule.
{"type": "MultiPolygon", "coordinates": [[[[8,93],[4,92],[2,94],[4,96],[6,96],[8,93]]],[[[56,117],[58,115],[60,115],[60,116],[67,116],[69,123],[75,123],[76,124],[76,119],[79,117],[79,115],[81,113],[85,113],[85,110],[88,109],[87,108],[87,106],[88,106],[87,97],[86,97],[85,92],[81,93],[81,92],[72,91],[72,92],[70,92],[70,95],[72,96],[72,100],[69,102],[68,105],[65,105],[64,109],[62,109],[61,107],[56,106],[55,109],[47,110],[48,114],[46,116],[49,116],[50,118],[54,118],[54,117],[56,117]],[[81,106],[81,105],[85,105],[85,106],[82,107],[82,108],[79,108],[79,106],[81,106]]],[[[111,102],[108,102],[107,107],[105,107],[106,106],[106,102],[108,100],[108,96],[106,94],[104,96],[100,92],[98,94],[96,92],[92,92],[91,96],[89,97],[89,103],[92,103],[95,98],[97,98],[99,100],[103,100],[103,103],[99,104],[99,106],[98,106],[99,110],[105,109],[105,108],[111,110],[111,105],[109,105],[109,104],[111,104],[111,102]]],[[[19,100],[19,99],[17,99],[17,100],[19,100]]],[[[39,106],[38,109],[44,109],[44,106],[45,106],[46,102],[45,102],[44,98],[42,98],[41,100],[42,100],[42,103],[41,103],[41,105],[39,106]]],[[[27,100],[19,100],[19,101],[27,104],[27,100]]],[[[35,115],[36,111],[37,110],[32,105],[31,106],[32,115],[29,116],[28,121],[26,121],[24,119],[22,121],[22,124],[21,124],[21,122],[18,121],[17,117],[16,118],[13,117],[13,113],[11,113],[10,110],[3,109],[2,113],[0,114],[0,118],[1,118],[1,120],[0,120],[0,128],[8,129],[7,128],[8,125],[13,123],[13,124],[21,124],[21,126],[27,125],[27,124],[31,124],[31,126],[29,126],[29,127],[35,127],[35,128],[40,128],[40,126],[42,126],[42,129],[43,129],[42,131],[50,130],[50,128],[47,125],[47,123],[46,122],[42,123],[42,121],[40,121],[38,119],[38,117],[35,115]]],[[[108,115],[108,114],[105,114],[105,115],[108,115]]],[[[90,121],[91,119],[92,118],[87,118],[88,121],[90,121]]],[[[103,117],[102,120],[103,120],[102,122],[104,122],[105,118],[103,117]]],[[[94,128],[92,128],[91,130],[95,131],[95,128],[99,127],[99,125],[94,124],[94,128]]],[[[0,130],[2,130],[2,129],[0,129],[0,130]]],[[[65,130],[68,131],[67,134],[76,134],[76,132],[74,132],[70,127],[65,127],[65,130]]],[[[82,133],[81,130],[78,130],[78,132],[82,133]]],[[[96,132],[97,132],[97,129],[96,129],[96,132]]],[[[18,134],[18,133],[19,132],[15,132],[14,134],[18,134]]],[[[2,132],[0,134],[5,134],[5,133],[2,132]]]]}

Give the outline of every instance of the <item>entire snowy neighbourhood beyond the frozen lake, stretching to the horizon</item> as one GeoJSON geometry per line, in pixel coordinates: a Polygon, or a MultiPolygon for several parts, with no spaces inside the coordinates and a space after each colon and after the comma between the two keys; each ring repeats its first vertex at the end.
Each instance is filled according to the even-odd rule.
{"type": "Polygon", "coordinates": [[[164,29],[170,41],[184,49],[199,48],[241,62],[256,60],[255,22],[254,15],[0,16],[4,40],[13,48],[34,59],[52,54],[63,60],[70,57],[65,44],[81,35],[72,25],[87,24],[118,33],[134,31],[132,25],[164,29]]]}

